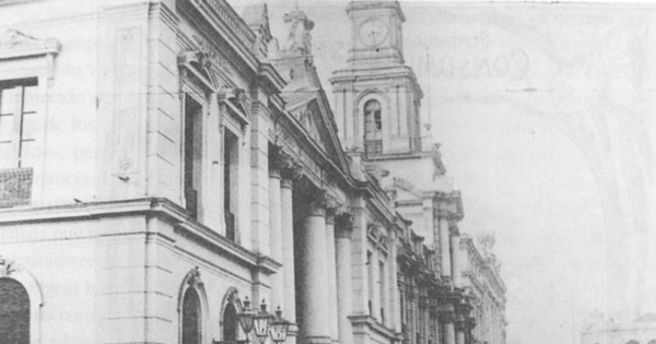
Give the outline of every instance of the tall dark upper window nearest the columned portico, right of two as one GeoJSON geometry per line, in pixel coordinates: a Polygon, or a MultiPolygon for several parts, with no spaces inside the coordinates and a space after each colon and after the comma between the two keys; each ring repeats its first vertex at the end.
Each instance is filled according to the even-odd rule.
{"type": "Polygon", "coordinates": [[[238,209],[238,142],[232,131],[223,133],[223,213],[225,214],[225,237],[235,240],[238,209]]]}

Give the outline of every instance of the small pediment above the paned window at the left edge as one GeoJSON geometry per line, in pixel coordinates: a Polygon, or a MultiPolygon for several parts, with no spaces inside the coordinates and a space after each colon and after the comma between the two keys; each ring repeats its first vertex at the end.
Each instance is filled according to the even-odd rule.
{"type": "Polygon", "coordinates": [[[61,45],[55,38],[36,38],[9,28],[0,36],[0,59],[57,55],[61,45]]]}

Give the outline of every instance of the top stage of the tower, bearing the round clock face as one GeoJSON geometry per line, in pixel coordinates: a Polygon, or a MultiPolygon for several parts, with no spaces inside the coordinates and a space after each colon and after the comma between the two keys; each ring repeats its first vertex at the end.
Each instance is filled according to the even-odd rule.
{"type": "Polygon", "coordinates": [[[403,63],[401,25],[406,16],[397,1],[352,1],[349,62],[403,63]]]}

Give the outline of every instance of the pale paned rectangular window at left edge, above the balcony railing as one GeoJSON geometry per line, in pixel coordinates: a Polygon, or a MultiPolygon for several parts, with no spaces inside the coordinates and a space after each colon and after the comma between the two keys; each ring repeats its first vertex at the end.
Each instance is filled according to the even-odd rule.
{"type": "Polygon", "coordinates": [[[36,79],[0,83],[0,168],[34,166],[37,100],[36,79]]]}

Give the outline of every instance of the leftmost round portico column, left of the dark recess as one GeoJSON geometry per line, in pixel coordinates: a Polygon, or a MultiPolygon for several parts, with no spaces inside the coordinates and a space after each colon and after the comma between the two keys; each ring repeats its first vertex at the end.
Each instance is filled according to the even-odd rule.
{"type": "Polygon", "coordinates": [[[282,234],[282,265],[285,271],[284,308],[282,317],[291,322],[285,344],[296,344],[296,282],[294,275],[294,207],[292,190],[294,180],[301,178],[301,169],[291,158],[284,159],[280,169],[280,232],[282,234]]]}

